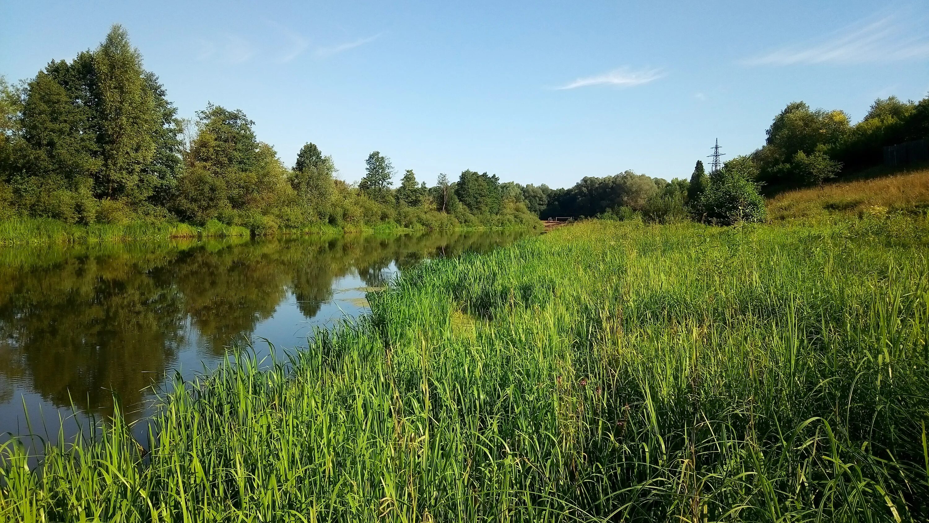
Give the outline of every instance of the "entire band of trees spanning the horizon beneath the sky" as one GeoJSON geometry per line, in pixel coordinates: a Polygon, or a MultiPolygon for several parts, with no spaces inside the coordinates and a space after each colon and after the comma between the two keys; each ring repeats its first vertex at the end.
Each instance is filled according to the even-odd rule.
{"type": "Polygon", "coordinates": [[[0,78],[0,219],[66,223],[182,221],[279,229],[525,227],[536,217],[600,216],[719,224],[765,219],[763,195],[818,185],[882,161],[882,148],[929,137],[929,97],[876,100],[851,124],[844,111],[789,104],[765,145],[717,172],[698,162],[667,181],[625,171],[568,189],[501,183],[465,170],[427,187],[373,151],[357,186],[307,143],[287,168],[241,110],[208,105],[177,118],[158,77],[118,25],[95,50],[50,62],[10,86],[0,78]]]}

